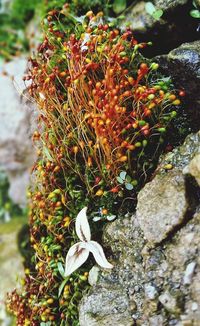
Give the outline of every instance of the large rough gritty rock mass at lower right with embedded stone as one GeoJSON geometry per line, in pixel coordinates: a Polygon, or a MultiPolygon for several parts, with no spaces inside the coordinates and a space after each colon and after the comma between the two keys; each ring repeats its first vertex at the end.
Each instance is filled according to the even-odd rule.
{"type": "Polygon", "coordinates": [[[161,159],[139,193],[136,214],[106,227],[115,267],[90,271],[81,326],[199,325],[199,187],[190,175],[199,153],[200,134],[188,136],[161,159]]]}

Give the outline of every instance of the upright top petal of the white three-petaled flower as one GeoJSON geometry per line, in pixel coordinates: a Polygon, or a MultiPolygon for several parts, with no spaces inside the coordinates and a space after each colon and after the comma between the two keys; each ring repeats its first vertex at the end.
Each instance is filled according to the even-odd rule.
{"type": "Polygon", "coordinates": [[[81,241],[90,241],[91,232],[86,215],[87,207],[84,207],[76,218],[76,233],[81,241]]]}

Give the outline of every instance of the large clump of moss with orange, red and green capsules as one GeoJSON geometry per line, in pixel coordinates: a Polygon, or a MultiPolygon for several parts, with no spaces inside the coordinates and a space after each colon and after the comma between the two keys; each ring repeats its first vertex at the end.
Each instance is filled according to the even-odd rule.
{"type": "Polygon", "coordinates": [[[93,264],[90,259],[63,279],[64,259],[77,242],[75,218],[87,206],[94,240],[101,242],[109,217],[134,210],[180,100],[158,64],[140,55],[148,44],[130,30],[120,34],[102,12],[75,17],[65,5],[48,13],[43,28],[24,78],[39,107],[29,193],[35,267],[26,270],[24,290],[10,294],[8,306],[18,326],[74,326],[93,264]]]}

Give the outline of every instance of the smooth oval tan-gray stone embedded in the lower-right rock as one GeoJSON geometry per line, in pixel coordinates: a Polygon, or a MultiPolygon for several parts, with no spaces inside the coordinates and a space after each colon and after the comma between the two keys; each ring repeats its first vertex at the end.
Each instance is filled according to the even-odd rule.
{"type": "Polygon", "coordinates": [[[159,243],[180,223],[188,209],[180,172],[157,175],[138,195],[137,217],[146,239],[159,243]]]}

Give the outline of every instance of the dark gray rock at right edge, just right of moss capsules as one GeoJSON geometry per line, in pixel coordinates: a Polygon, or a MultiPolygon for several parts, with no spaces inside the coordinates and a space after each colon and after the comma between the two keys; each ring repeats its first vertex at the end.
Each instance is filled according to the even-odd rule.
{"type": "Polygon", "coordinates": [[[185,113],[195,130],[200,126],[200,41],[184,43],[178,48],[155,58],[162,73],[171,75],[177,89],[184,89],[185,113]]]}

